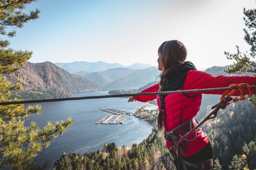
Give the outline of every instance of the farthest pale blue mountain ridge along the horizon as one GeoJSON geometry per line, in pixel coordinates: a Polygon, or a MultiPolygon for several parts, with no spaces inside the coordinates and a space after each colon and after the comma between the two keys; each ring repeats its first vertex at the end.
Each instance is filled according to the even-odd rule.
{"type": "Polygon", "coordinates": [[[153,65],[142,64],[142,63],[135,63],[130,66],[124,66],[119,63],[106,63],[103,61],[98,61],[98,62],[74,61],[70,63],[56,62],[54,64],[68,71],[69,73],[77,73],[80,71],[86,71],[86,72],[92,73],[92,72],[105,71],[110,68],[119,68],[119,67],[130,68],[130,69],[144,69],[144,68],[149,68],[153,66],[153,65]]]}

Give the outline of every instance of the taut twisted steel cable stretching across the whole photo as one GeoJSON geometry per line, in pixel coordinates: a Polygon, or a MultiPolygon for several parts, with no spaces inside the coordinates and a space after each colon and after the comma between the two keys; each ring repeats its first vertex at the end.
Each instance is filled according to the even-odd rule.
{"type": "MultiPolygon", "coordinates": [[[[256,86],[250,86],[250,87],[256,88],[256,86]]],[[[247,87],[243,87],[243,89],[246,89],[246,88],[247,87]]],[[[234,90],[234,89],[237,89],[237,87],[220,87],[220,88],[193,89],[193,90],[174,90],[174,91],[150,92],[150,93],[129,93],[129,94],[115,94],[115,95],[103,95],[103,96],[67,97],[67,98],[42,99],[42,100],[24,100],[24,101],[0,102],[0,105],[60,102],[60,101],[67,101],[67,100],[100,99],[100,98],[110,98],[110,97],[147,96],[147,95],[156,95],[156,94],[166,95],[166,94],[177,94],[177,93],[195,93],[195,92],[209,92],[209,91],[234,90]]]]}

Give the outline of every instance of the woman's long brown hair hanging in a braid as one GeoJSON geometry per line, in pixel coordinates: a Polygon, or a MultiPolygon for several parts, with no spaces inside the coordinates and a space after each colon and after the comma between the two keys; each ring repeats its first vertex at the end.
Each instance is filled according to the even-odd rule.
{"type": "MultiPolygon", "coordinates": [[[[160,62],[163,64],[164,70],[160,74],[160,91],[165,91],[166,78],[178,65],[184,63],[187,57],[187,50],[181,42],[177,40],[165,41],[158,48],[160,62]]],[[[160,95],[160,105],[164,104],[164,95],[160,95]]],[[[158,129],[163,129],[162,108],[157,117],[158,129]]]]}

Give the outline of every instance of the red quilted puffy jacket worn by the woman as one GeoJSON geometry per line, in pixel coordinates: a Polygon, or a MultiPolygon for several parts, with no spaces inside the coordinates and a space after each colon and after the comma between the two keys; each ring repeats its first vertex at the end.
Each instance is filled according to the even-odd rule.
{"type": "MultiPolygon", "coordinates": [[[[256,77],[255,76],[213,76],[211,74],[205,73],[203,71],[190,70],[187,73],[187,77],[185,78],[185,82],[183,85],[184,90],[190,89],[207,89],[207,88],[218,88],[218,87],[228,87],[230,84],[239,84],[239,83],[247,83],[249,85],[256,85],[256,77]]],[[[149,87],[140,93],[144,92],[157,92],[159,90],[159,83],[155,84],[152,87],[149,87]]],[[[178,89],[181,90],[181,89],[178,89]]],[[[244,94],[248,94],[248,90],[244,90],[244,94]]],[[[182,117],[182,123],[192,119],[196,116],[197,112],[200,109],[201,100],[203,94],[223,94],[224,91],[211,91],[211,92],[200,92],[200,93],[187,93],[190,96],[195,94],[199,94],[196,97],[189,98],[184,94],[168,94],[165,97],[165,111],[166,116],[163,114],[163,126],[165,131],[171,130],[178,125],[180,125],[180,117],[182,117]],[[166,119],[166,121],[165,121],[166,119]],[[165,123],[167,122],[167,124],[165,123]]],[[[256,89],[253,89],[253,94],[256,93],[256,89]]],[[[235,92],[233,96],[240,96],[240,92],[235,92]]],[[[150,96],[134,96],[135,100],[140,102],[147,102],[149,100],[154,100],[157,98],[157,104],[160,110],[160,101],[158,95],[150,95],[150,96]]],[[[209,142],[209,139],[205,132],[202,130],[196,130],[197,137],[194,141],[186,141],[186,148],[188,152],[186,154],[182,154],[182,156],[190,156],[198,151],[200,151],[205,145],[209,142]]],[[[187,139],[192,139],[194,137],[194,133],[188,136],[187,139]]],[[[178,138],[180,139],[180,137],[178,138]]],[[[166,141],[166,146],[168,149],[171,147],[171,144],[166,141]]]]}

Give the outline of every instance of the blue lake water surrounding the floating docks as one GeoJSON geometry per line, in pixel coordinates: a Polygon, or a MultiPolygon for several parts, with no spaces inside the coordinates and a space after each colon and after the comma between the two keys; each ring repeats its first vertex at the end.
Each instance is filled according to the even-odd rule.
{"type": "MultiPolygon", "coordinates": [[[[107,95],[107,91],[79,93],[74,97],[98,95],[107,95]]],[[[39,103],[42,106],[41,114],[31,116],[26,122],[27,125],[35,121],[42,128],[48,121],[56,122],[69,117],[74,119],[74,122],[62,136],[57,137],[48,148],[39,153],[36,157],[37,163],[49,160],[52,168],[54,161],[64,152],[84,155],[85,152],[102,150],[105,143],[115,142],[121,147],[142,142],[151,133],[152,127],[134,116],[126,116],[123,124],[95,124],[109,114],[100,109],[116,108],[135,112],[138,107],[145,105],[142,102],[128,103],[127,100],[128,98],[119,97],[39,103]]]]}

